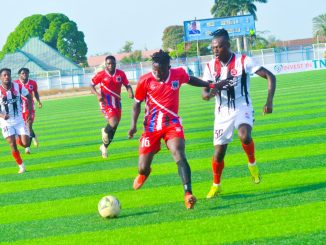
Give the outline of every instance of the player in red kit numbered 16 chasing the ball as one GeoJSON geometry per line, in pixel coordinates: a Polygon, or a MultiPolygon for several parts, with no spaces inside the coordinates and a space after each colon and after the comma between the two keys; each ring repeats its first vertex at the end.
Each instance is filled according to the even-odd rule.
{"type": "Polygon", "coordinates": [[[210,84],[196,77],[189,77],[182,68],[171,68],[170,59],[169,54],[162,50],[154,53],[152,72],[143,75],[137,84],[129,138],[137,132],[137,120],[143,101],[146,103],[146,111],[144,132],[139,146],[139,175],[134,180],[133,188],[139,189],[148,178],[153,157],[159,152],[163,139],[177,163],[184,187],[186,208],[192,209],[196,198],[192,194],[191,170],[185,154],[184,132],[178,115],[179,90],[184,83],[197,87],[209,87],[210,84]]]}

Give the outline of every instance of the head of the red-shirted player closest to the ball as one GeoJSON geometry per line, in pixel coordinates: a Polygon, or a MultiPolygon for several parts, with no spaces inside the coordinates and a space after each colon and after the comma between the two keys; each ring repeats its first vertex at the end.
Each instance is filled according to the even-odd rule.
{"type": "Polygon", "coordinates": [[[169,76],[171,57],[168,52],[160,50],[152,55],[153,76],[159,82],[164,81],[169,76]]]}

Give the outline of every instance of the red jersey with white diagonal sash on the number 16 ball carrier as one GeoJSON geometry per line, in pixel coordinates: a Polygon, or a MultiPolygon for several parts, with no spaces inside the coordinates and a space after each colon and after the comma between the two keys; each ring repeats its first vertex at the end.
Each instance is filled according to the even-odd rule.
{"type": "Polygon", "coordinates": [[[137,102],[146,101],[144,127],[147,132],[178,124],[179,90],[188,83],[189,76],[182,68],[171,68],[164,82],[158,82],[152,73],[140,78],[135,92],[137,102]]]}

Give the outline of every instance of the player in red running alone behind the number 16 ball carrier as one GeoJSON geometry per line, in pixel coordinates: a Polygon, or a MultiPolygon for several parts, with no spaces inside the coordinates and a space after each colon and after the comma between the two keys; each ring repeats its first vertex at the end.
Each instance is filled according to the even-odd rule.
{"type": "Polygon", "coordinates": [[[107,120],[107,125],[102,128],[102,142],[100,151],[103,158],[108,157],[108,146],[113,140],[115,131],[121,118],[121,86],[122,84],[128,91],[129,98],[134,98],[132,87],[129,84],[126,74],[116,69],[116,60],[114,56],[105,58],[105,69],[98,72],[92,79],[91,92],[96,95],[100,109],[107,120]],[[100,84],[100,91],[97,92],[95,86],[100,84]]]}

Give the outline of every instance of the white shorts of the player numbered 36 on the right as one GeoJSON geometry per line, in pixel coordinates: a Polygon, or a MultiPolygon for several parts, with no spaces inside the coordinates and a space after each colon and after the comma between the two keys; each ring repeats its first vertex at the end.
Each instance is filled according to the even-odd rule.
{"type": "Polygon", "coordinates": [[[232,141],[234,129],[239,125],[254,124],[254,110],[251,105],[238,105],[235,110],[227,106],[215,111],[214,145],[225,145],[232,141]]]}

